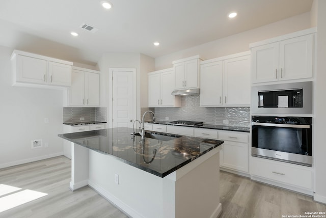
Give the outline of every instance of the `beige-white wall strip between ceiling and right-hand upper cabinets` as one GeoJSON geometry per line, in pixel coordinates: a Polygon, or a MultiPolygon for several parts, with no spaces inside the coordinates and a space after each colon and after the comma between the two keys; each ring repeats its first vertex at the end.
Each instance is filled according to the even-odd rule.
{"type": "Polygon", "coordinates": [[[203,60],[232,55],[249,50],[249,44],[311,27],[310,13],[304,13],[279,22],[261,26],[223,39],[187,48],[167,56],[155,58],[155,70],[172,67],[172,62],[199,55],[203,60]]]}

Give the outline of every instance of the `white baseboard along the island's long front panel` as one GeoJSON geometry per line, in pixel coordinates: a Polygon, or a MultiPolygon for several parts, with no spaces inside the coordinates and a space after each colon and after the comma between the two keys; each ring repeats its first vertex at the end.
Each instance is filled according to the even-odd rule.
{"type": "Polygon", "coordinates": [[[128,205],[126,205],[125,203],[123,203],[122,201],[120,201],[118,198],[116,198],[111,193],[107,192],[104,188],[100,187],[99,185],[97,185],[97,184],[95,184],[95,183],[93,183],[91,181],[89,181],[89,184],[88,185],[91,188],[93,188],[99,195],[101,195],[103,198],[105,198],[106,200],[110,201],[114,205],[116,205],[119,209],[121,209],[122,211],[124,211],[129,216],[134,217],[134,218],[144,218],[143,215],[141,215],[137,211],[135,211],[132,208],[130,208],[128,205]]]}

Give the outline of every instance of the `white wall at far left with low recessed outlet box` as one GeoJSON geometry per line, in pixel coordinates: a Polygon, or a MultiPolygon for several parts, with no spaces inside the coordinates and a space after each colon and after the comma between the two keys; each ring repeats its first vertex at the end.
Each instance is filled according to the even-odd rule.
{"type": "Polygon", "coordinates": [[[0,46],[0,168],[63,154],[57,136],[63,132],[62,90],[12,87],[12,51],[0,46]],[[43,147],[32,149],[31,141],[37,139],[43,147]]]}

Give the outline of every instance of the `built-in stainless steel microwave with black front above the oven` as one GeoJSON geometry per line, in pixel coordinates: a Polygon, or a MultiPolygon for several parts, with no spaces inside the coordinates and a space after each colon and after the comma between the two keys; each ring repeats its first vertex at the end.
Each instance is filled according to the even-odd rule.
{"type": "Polygon", "coordinates": [[[312,81],[252,87],[253,114],[312,114],[312,81]]]}

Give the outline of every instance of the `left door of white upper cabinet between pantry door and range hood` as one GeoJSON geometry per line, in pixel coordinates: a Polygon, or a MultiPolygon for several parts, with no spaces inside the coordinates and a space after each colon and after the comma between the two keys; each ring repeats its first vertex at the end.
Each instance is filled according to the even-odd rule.
{"type": "Polygon", "coordinates": [[[160,105],[160,74],[157,73],[148,76],[148,106],[157,107],[159,105],[160,105]]]}

